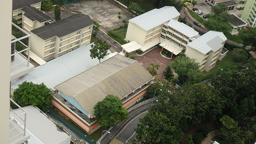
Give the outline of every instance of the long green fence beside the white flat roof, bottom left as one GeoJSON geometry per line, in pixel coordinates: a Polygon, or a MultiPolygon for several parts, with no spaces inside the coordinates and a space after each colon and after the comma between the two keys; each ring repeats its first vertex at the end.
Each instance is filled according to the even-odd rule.
{"type": "MultiPolygon", "coordinates": [[[[49,110],[49,109],[48,109],[49,110]]],[[[51,110],[48,112],[50,115],[52,115],[54,118],[56,118],[58,121],[62,122],[65,126],[67,126],[69,129],[71,129],[74,133],[76,133],[78,136],[80,136],[82,139],[86,140],[89,144],[95,144],[93,141],[91,141],[89,138],[85,137],[84,134],[79,132],[77,129],[75,129],[72,125],[68,124],[66,121],[64,121],[62,118],[60,118],[57,114],[53,113],[51,110]]]]}

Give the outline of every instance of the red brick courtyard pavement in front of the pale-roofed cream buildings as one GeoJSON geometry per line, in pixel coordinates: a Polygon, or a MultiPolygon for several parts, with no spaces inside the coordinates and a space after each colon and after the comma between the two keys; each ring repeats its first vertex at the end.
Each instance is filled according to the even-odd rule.
{"type": "MultiPolygon", "coordinates": [[[[151,62],[154,65],[159,64],[160,67],[157,70],[157,78],[163,79],[163,71],[165,71],[165,68],[167,67],[167,65],[171,65],[171,62],[174,61],[174,59],[176,58],[176,55],[173,54],[173,58],[169,59],[169,58],[165,58],[161,55],[161,50],[162,48],[154,48],[153,50],[151,50],[150,52],[144,54],[143,56],[139,57],[135,57],[135,59],[142,64],[142,66],[147,69],[148,67],[151,67],[151,65],[149,65],[151,62]]],[[[169,52],[169,55],[171,55],[171,53],[169,52]]]]}

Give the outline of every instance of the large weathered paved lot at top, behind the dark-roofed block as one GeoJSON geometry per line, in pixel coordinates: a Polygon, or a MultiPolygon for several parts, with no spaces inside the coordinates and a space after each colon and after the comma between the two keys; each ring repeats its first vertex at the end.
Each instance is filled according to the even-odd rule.
{"type": "Polygon", "coordinates": [[[128,22],[131,19],[131,15],[127,12],[116,7],[107,0],[97,0],[97,1],[83,1],[79,3],[68,3],[64,4],[67,9],[83,11],[84,14],[89,15],[91,19],[96,20],[105,31],[113,30],[120,24],[123,20],[128,22]],[[118,19],[118,12],[121,12],[122,19],[118,19]]]}

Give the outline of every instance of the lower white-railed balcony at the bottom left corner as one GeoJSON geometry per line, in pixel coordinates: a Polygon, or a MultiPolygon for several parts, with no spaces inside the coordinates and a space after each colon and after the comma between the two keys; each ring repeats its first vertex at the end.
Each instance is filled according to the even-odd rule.
{"type": "Polygon", "coordinates": [[[10,132],[9,132],[9,144],[21,144],[30,138],[29,134],[26,134],[26,111],[22,109],[11,98],[10,101],[22,110],[22,113],[15,113],[10,108],[10,132]]]}

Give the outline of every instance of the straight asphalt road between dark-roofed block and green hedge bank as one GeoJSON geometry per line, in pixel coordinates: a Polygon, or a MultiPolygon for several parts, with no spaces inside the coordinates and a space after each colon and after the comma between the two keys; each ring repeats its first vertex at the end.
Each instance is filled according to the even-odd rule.
{"type": "Polygon", "coordinates": [[[106,33],[104,33],[103,31],[99,30],[96,37],[107,41],[108,44],[111,45],[112,49],[115,50],[116,52],[120,53],[122,51],[122,47],[116,41],[114,41],[112,38],[110,38],[106,33]]]}

